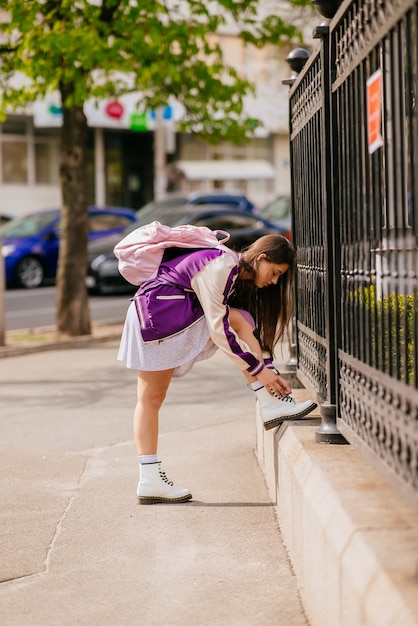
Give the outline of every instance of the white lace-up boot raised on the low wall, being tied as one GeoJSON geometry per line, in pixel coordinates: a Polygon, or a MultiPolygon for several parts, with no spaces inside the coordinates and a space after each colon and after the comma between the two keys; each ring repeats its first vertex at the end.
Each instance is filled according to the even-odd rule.
{"type": "Polygon", "coordinates": [[[255,391],[266,430],[280,426],[285,421],[298,420],[318,406],[312,400],[295,402],[291,396],[271,396],[260,383],[251,383],[248,387],[255,391]]]}

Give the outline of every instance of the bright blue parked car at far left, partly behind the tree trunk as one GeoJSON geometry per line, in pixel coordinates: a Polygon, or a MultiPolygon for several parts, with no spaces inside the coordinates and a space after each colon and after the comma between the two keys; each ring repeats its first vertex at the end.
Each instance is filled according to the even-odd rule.
{"type": "MultiPolygon", "coordinates": [[[[38,211],[0,227],[7,285],[31,289],[55,278],[60,215],[59,209],[38,211]]],[[[89,242],[121,233],[136,221],[133,209],[89,207],[89,242]]]]}

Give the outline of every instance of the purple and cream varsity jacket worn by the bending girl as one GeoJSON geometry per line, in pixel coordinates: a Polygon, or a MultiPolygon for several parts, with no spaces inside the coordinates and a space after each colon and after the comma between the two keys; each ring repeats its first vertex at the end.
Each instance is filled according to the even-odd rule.
{"type": "Polygon", "coordinates": [[[143,283],[133,300],[144,341],[161,341],[206,318],[212,341],[237,366],[256,376],[264,362],[229,325],[227,304],[238,277],[233,250],[205,249],[161,263],[155,278],[143,283]]]}

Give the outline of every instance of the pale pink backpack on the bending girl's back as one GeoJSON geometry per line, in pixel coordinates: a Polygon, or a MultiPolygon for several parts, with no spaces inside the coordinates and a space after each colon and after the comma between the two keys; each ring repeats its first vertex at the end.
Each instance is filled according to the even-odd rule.
{"type": "Polygon", "coordinates": [[[183,224],[170,228],[160,222],[151,222],[126,235],[113,252],[119,261],[119,273],[132,285],[141,285],[157,275],[167,248],[229,250],[224,246],[229,237],[224,230],[211,230],[206,226],[183,224]]]}

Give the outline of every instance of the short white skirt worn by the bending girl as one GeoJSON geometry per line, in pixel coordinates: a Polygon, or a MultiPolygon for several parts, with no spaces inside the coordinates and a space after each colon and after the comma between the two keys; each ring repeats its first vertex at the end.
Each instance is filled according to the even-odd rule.
{"type": "Polygon", "coordinates": [[[126,314],[117,358],[125,362],[129,369],[143,372],[174,368],[173,377],[180,378],[191,370],[194,363],[210,358],[216,350],[204,317],[174,337],[144,343],[132,302],[126,314]]]}

